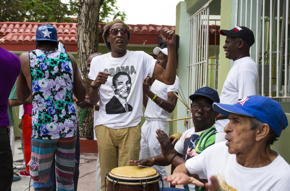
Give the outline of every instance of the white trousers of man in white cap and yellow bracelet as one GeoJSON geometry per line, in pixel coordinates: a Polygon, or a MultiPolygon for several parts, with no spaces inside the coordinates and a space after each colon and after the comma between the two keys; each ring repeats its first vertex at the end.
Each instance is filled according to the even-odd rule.
{"type": "MultiPolygon", "coordinates": [[[[163,130],[167,135],[169,134],[169,122],[168,121],[145,121],[141,127],[141,151],[139,159],[146,159],[148,157],[154,157],[161,154],[160,143],[156,139],[156,129],[159,128],[163,130]]],[[[153,169],[158,171],[162,177],[166,176],[167,173],[164,166],[153,165],[153,169]]],[[[160,188],[162,187],[162,182],[159,181],[160,188]]],[[[163,181],[163,187],[169,187],[169,183],[163,181]]]]}

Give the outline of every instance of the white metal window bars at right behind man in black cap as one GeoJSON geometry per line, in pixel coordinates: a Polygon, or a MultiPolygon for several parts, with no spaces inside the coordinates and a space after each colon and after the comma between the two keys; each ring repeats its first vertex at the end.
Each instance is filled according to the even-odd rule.
{"type": "Polygon", "coordinates": [[[253,0],[236,0],[235,16],[235,26],[240,23],[252,29],[252,24],[256,24],[255,53],[252,53],[251,48],[250,54],[255,54],[256,63],[260,68],[260,94],[278,101],[290,101],[289,0],[257,0],[254,3],[253,0]],[[262,3],[260,7],[259,3],[262,3]],[[283,12],[280,11],[281,7],[283,12]],[[255,8],[254,18],[252,12],[255,8]],[[249,11],[250,19],[247,17],[249,11]]]}

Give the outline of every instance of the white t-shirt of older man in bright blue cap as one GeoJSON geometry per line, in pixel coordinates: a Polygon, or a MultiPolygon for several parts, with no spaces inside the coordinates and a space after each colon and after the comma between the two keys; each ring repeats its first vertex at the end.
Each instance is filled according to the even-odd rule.
{"type": "Polygon", "coordinates": [[[189,173],[198,174],[201,179],[214,175],[223,190],[290,190],[290,165],[281,155],[267,166],[247,168],[238,164],[235,154],[229,154],[225,143],[212,145],[186,161],[189,173]]]}

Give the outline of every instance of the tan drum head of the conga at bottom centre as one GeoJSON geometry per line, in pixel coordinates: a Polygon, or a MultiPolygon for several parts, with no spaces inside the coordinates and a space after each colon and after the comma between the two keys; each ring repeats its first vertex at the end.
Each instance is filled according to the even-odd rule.
{"type": "Polygon", "coordinates": [[[134,177],[143,178],[150,177],[157,173],[153,168],[141,167],[141,166],[122,166],[111,170],[111,174],[119,177],[134,177]]]}

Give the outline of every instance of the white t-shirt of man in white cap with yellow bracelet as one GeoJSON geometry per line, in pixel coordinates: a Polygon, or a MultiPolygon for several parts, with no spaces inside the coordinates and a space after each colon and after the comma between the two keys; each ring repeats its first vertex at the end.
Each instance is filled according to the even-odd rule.
{"type": "MultiPolygon", "coordinates": [[[[179,78],[176,76],[176,79],[173,85],[166,85],[165,83],[162,83],[161,81],[155,80],[150,90],[151,92],[153,92],[154,94],[157,94],[157,96],[161,97],[162,99],[168,100],[168,92],[179,91],[179,78]]],[[[151,99],[148,99],[144,116],[149,117],[149,118],[166,119],[166,121],[169,121],[172,116],[172,112],[169,113],[165,111],[159,105],[157,105],[154,101],[151,101],[151,99]]]]}

